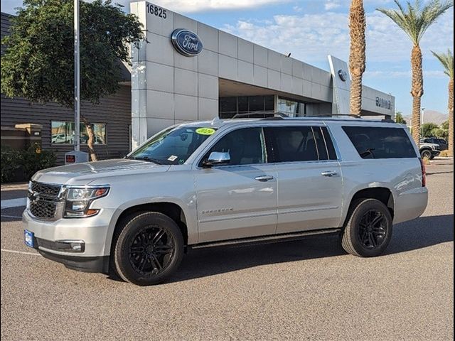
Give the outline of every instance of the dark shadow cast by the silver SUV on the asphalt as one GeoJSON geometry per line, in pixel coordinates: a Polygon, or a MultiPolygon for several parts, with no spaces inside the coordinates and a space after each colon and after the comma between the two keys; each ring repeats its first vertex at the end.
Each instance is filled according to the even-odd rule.
{"type": "MultiPolygon", "coordinates": [[[[423,249],[454,241],[454,215],[419,217],[394,226],[392,240],[383,256],[423,249]]],[[[224,274],[255,266],[304,261],[346,252],[338,235],[307,237],[299,241],[256,244],[250,246],[213,247],[190,250],[169,282],[224,274]]]]}

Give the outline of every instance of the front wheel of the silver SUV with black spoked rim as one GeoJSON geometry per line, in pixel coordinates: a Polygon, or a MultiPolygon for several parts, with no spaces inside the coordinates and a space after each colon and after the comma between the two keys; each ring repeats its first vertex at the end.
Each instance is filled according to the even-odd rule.
{"type": "Polygon", "coordinates": [[[171,276],[183,258],[183,236],[176,222],[158,212],[134,215],[121,227],[112,264],[124,280],[138,286],[171,276]]]}

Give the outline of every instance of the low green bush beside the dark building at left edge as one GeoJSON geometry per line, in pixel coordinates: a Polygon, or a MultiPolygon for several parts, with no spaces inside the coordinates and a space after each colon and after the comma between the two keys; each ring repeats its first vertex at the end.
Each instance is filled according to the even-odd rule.
{"type": "Polygon", "coordinates": [[[1,146],[1,183],[15,180],[18,171],[23,172],[24,180],[29,180],[37,171],[50,168],[54,164],[55,154],[43,151],[38,146],[19,151],[1,146]]]}

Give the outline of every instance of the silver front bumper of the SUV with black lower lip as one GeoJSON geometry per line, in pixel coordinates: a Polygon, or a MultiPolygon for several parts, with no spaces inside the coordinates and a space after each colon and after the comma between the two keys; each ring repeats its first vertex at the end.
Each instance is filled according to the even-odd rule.
{"type": "Polygon", "coordinates": [[[36,249],[48,259],[71,269],[107,272],[110,248],[107,245],[109,222],[114,210],[101,210],[87,218],[36,220],[28,210],[22,214],[23,228],[33,232],[36,249]],[[65,249],[68,241],[80,242],[79,250],[65,249]]]}

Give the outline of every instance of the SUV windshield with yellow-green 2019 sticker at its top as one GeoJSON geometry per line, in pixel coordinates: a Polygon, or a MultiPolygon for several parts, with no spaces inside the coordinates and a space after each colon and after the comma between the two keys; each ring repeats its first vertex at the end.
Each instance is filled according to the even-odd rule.
{"type": "Polygon", "coordinates": [[[132,152],[128,158],[159,165],[181,165],[216,129],[205,126],[177,126],[163,131],[132,152]]]}

